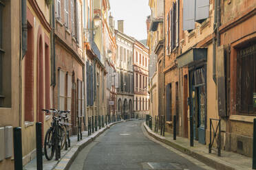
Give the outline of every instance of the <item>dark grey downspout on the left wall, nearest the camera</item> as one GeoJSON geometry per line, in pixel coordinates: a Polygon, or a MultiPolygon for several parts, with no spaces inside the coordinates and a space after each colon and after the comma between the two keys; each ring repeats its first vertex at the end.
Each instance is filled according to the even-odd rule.
{"type": "Polygon", "coordinates": [[[21,100],[22,100],[22,60],[28,50],[28,27],[27,27],[27,1],[21,0],[21,57],[19,58],[19,127],[21,127],[21,100]]]}

